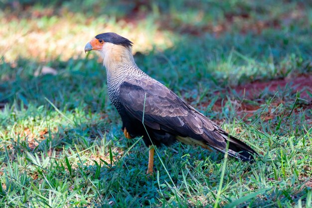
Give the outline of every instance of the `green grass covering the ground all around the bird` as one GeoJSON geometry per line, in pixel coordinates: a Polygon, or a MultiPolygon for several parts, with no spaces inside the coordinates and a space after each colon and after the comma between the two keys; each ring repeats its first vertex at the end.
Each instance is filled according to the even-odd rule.
{"type": "Polygon", "coordinates": [[[232,89],[311,74],[311,4],[29,2],[0,4],[0,207],[312,207],[311,93],[232,89]],[[107,30],[256,162],[177,143],[148,177],[148,148],[123,136],[105,69],[82,52],[107,30]]]}

